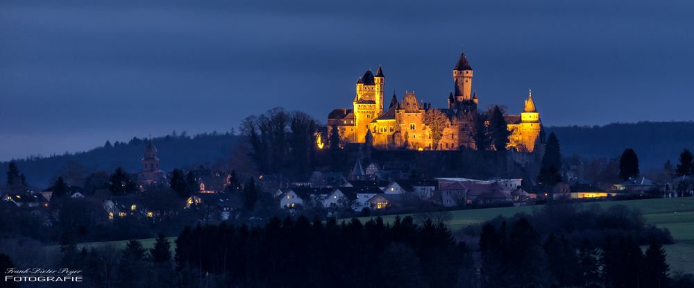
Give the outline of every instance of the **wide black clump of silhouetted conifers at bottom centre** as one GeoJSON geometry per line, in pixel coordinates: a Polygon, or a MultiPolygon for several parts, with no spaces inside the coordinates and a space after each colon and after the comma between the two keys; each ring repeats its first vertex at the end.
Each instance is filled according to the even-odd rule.
{"type": "Polygon", "coordinates": [[[197,226],[176,244],[184,286],[219,275],[228,287],[453,287],[469,253],[446,226],[411,217],[197,226]]]}

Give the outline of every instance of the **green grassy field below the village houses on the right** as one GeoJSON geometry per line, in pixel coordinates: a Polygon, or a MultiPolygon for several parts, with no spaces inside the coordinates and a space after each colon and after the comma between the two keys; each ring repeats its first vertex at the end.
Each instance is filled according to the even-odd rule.
{"type": "MultiPolygon", "coordinates": [[[[675,244],[665,246],[668,252],[670,271],[684,271],[694,273],[694,197],[687,198],[660,198],[631,201],[604,201],[596,202],[603,208],[613,205],[625,205],[643,212],[648,224],[659,228],[668,228],[675,244]]],[[[457,230],[471,223],[481,223],[493,219],[499,215],[512,216],[516,213],[532,213],[539,206],[500,207],[476,210],[451,211],[452,219],[448,226],[457,230]]],[[[403,214],[401,217],[411,216],[403,214]]],[[[362,217],[359,220],[369,221],[373,217],[362,217]]],[[[395,215],[382,217],[384,221],[391,222],[395,215]]]]}

